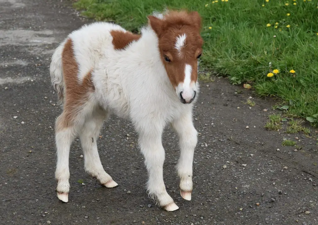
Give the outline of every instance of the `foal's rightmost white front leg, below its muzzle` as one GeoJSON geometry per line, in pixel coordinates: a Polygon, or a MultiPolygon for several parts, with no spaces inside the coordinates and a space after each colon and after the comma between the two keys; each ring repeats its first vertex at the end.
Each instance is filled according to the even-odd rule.
{"type": "Polygon", "coordinates": [[[192,115],[187,113],[172,122],[172,127],[179,136],[180,158],[177,165],[180,177],[180,194],[183,199],[191,200],[192,163],[197,145],[197,130],[193,126],[192,115]]]}

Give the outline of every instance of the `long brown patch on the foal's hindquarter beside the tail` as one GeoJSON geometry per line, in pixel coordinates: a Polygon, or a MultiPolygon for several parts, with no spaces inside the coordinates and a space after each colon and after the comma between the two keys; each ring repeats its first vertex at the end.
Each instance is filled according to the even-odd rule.
{"type": "Polygon", "coordinates": [[[89,98],[89,94],[95,90],[92,82],[92,71],[78,81],[78,63],[74,56],[73,41],[68,39],[62,52],[63,79],[65,88],[65,102],[63,113],[56,120],[56,131],[73,126],[81,107],[89,98]]]}

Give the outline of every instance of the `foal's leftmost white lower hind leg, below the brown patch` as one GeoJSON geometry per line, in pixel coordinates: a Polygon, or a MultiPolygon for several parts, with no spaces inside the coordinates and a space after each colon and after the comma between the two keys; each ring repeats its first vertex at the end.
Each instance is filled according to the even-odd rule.
{"type": "Polygon", "coordinates": [[[57,196],[61,201],[68,201],[70,190],[70,171],[69,171],[69,153],[73,139],[76,135],[73,127],[63,127],[63,114],[56,120],[56,127],[62,127],[55,132],[55,141],[57,147],[57,164],[55,170],[55,179],[57,180],[57,196]]]}

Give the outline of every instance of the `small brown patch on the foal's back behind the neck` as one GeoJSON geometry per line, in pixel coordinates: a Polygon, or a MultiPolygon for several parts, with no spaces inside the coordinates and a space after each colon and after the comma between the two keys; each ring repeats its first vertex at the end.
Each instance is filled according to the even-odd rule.
{"type": "Polygon", "coordinates": [[[126,48],[133,41],[138,41],[140,38],[139,34],[133,34],[131,32],[124,31],[110,31],[113,37],[113,45],[116,50],[121,50],[126,48]]]}

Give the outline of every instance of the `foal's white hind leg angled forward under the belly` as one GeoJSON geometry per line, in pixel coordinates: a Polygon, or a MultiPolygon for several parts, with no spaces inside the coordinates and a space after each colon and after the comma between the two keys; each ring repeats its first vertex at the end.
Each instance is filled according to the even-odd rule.
{"type": "Polygon", "coordinates": [[[105,172],[100,161],[96,143],[100,128],[107,118],[108,112],[99,108],[95,109],[92,116],[86,119],[80,130],[79,138],[83,148],[86,172],[95,177],[103,186],[114,188],[118,184],[105,172]]]}

